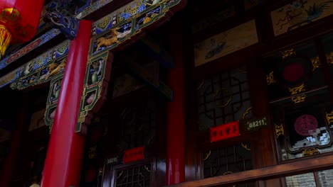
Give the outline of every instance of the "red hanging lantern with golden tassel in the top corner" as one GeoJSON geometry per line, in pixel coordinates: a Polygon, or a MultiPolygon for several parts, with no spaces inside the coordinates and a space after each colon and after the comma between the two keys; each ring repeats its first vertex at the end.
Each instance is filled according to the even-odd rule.
{"type": "Polygon", "coordinates": [[[9,44],[33,38],[43,4],[44,0],[0,0],[0,57],[9,44]]]}

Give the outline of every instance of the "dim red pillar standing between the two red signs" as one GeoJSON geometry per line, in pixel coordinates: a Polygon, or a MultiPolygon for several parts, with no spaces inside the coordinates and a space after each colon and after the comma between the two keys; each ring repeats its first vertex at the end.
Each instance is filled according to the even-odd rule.
{"type": "Polygon", "coordinates": [[[175,68],[168,75],[168,86],[174,91],[174,101],[167,104],[166,185],[185,181],[185,96],[181,28],[181,22],[174,21],[169,31],[175,68]]]}

